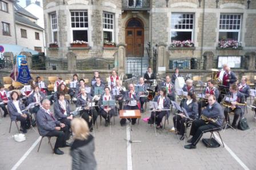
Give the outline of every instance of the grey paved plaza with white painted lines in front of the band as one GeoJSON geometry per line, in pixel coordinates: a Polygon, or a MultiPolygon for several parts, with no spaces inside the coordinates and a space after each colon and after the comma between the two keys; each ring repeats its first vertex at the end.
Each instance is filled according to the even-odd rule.
{"type": "MultiPolygon", "coordinates": [[[[250,101],[249,101],[250,102],[250,101]]],[[[74,107],[74,105],[73,105],[74,107]]],[[[150,113],[142,114],[142,118],[150,113]]],[[[133,126],[133,140],[140,143],[126,142],[129,138],[129,126],[121,127],[119,118],[115,117],[115,125],[105,127],[104,121],[95,127],[95,157],[98,169],[256,169],[256,132],[253,127],[254,112],[248,109],[245,114],[250,129],[246,131],[227,129],[221,132],[226,144],[218,148],[206,148],[200,141],[195,150],[185,150],[183,141],[169,129],[173,126],[173,114],[170,114],[169,125],[165,130],[157,130],[142,119],[133,126]]],[[[114,124],[114,120],[111,119],[114,124]]],[[[166,122],[167,123],[167,122],[166,122]]],[[[19,125],[19,123],[18,123],[19,125]]],[[[51,153],[50,145],[44,138],[39,152],[39,134],[37,127],[28,130],[25,142],[15,142],[12,135],[17,133],[15,123],[9,134],[10,118],[0,118],[0,169],[71,169],[69,148],[61,148],[64,155],[51,153]]],[[[190,128],[188,128],[188,131],[190,128]]],[[[210,133],[203,135],[203,138],[210,133]]],[[[55,143],[55,138],[51,139],[55,143]]],[[[186,144],[186,143],[185,143],[186,144]]]]}

